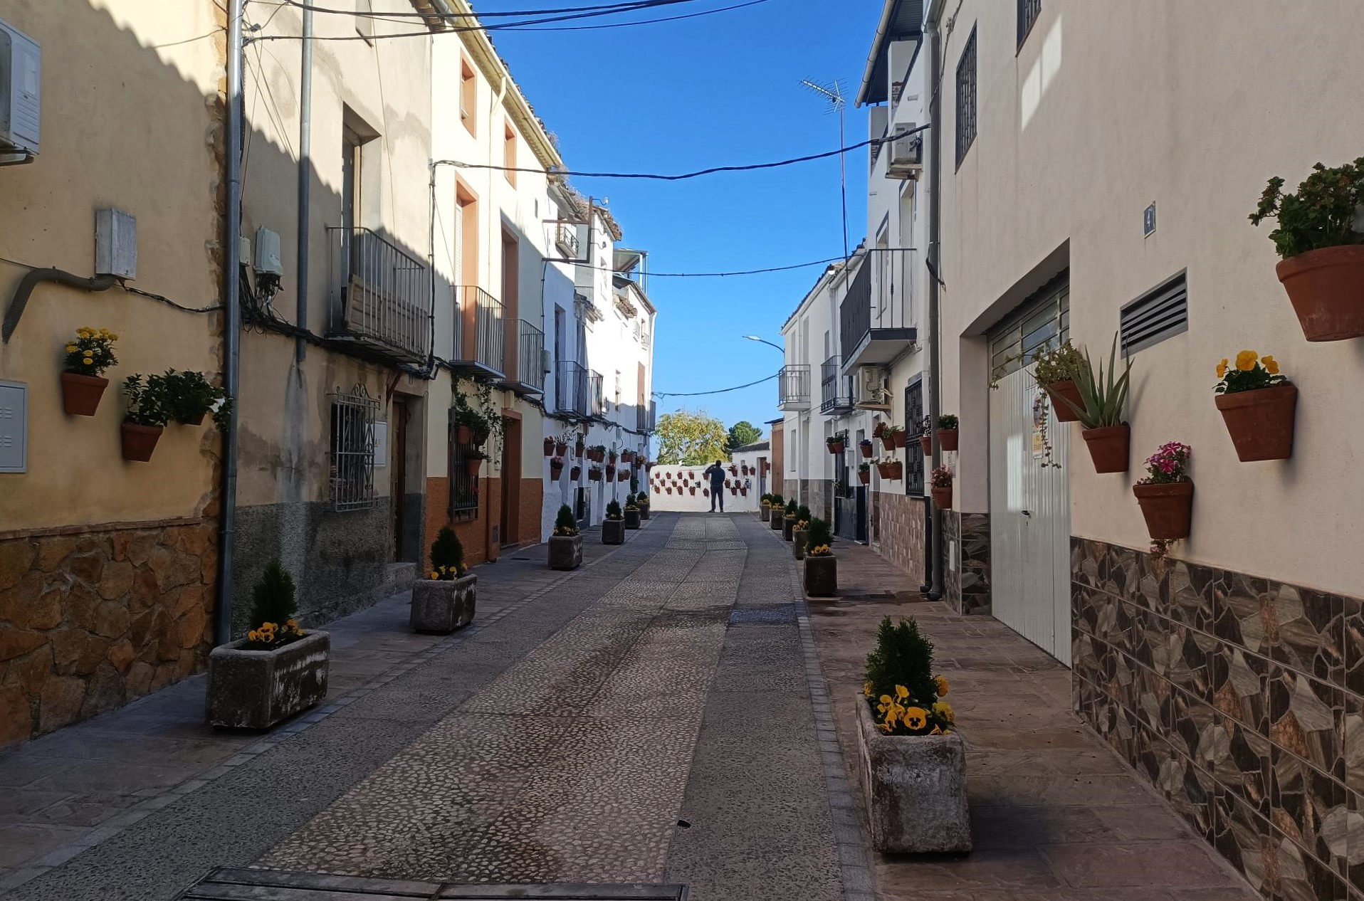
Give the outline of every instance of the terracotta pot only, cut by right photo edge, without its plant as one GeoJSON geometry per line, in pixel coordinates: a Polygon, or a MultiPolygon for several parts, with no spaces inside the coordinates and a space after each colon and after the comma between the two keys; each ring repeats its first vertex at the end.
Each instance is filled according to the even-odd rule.
{"type": "Polygon", "coordinates": [[[1308,341],[1364,335],[1364,245],[1299,254],[1275,271],[1308,341]]]}

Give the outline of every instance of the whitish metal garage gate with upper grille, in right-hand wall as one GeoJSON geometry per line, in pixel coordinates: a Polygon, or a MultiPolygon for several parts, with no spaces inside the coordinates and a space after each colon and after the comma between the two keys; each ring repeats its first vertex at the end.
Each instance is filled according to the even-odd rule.
{"type": "Polygon", "coordinates": [[[1033,354],[1067,337],[1067,301],[1061,279],[990,337],[990,593],[1000,622],[1069,665],[1069,427],[1033,379],[1033,354]]]}

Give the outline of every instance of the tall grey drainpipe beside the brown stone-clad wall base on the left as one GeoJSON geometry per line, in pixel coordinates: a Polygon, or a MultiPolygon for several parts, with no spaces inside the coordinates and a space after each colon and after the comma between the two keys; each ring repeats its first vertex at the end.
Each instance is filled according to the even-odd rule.
{"type": "MultiPolygon", "coordinates": [[[[225,269],[222,292],[226,307],[224,323],[222,380],[228,394],[239,399],[241,387],[241,7],[244,0],[228,3],[228,215],[224,228],[225,269]]],[[[213,642],[232,641],[232,538],[237,513],[237,418],[240,405],[228,418],[222,436],[222,519],[218,530],[218,602],[213,611],[213,642]]]]}

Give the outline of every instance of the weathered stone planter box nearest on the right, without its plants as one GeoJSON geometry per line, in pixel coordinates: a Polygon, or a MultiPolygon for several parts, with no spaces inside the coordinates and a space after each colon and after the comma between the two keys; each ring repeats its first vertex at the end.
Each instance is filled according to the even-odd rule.
{"type": "Polygon", "coordinates": [[[960,732],[883,735],[866,699],[855,703],[872,846],[884,853],[970,851],[966,746],[960,732]]]}

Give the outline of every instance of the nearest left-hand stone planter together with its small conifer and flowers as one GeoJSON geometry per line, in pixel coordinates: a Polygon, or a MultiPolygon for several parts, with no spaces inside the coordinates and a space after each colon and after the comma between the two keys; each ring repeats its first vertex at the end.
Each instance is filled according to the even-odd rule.
{"type": "Polygon", "coordinates": [[[270,562],[252,592],[246,638],[209,654],[209,725],[269,729],[327,694],[331,637],[295,620],[293,579],[270,562]]]}

